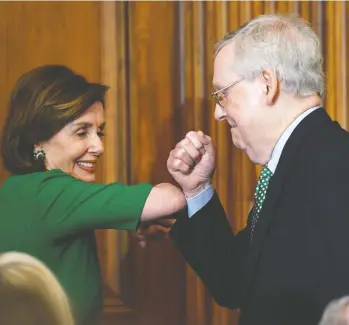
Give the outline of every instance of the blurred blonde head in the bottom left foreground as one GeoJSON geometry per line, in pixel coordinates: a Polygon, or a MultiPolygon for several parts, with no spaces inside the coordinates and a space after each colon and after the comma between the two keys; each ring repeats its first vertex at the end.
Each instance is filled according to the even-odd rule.
{"type": "Polygon", "coordinates": [[[18,252],[0,255],[0,324],[74,324],[64,290],[36,258],[18,252]]]}

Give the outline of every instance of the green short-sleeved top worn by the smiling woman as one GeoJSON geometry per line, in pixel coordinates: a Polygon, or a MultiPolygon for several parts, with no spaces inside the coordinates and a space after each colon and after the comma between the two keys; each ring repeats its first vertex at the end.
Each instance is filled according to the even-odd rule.
{"type": "Polygon", "coordinates": [[[0,252],[43,261],[71,302],[77,325],[102,312],[94,229],[135,230],[152,185],[82,182],[60,170],[10,176],[0,188],[0,252]]]}

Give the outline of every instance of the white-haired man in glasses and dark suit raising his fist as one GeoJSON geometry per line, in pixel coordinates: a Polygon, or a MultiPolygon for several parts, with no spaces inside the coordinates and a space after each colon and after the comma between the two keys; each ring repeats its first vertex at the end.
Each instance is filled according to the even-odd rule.
{"type": "Polygon", "coordinates": [[[349,293],[349,135],[321,107],[322,61],[295,16],[258,17],[217,44],[215,118],[264,166],[238,234],[212,186],[211,138],[189,132],[167,161],[188,202],[172,237],[241,325],[315,325],[349,293]]]}

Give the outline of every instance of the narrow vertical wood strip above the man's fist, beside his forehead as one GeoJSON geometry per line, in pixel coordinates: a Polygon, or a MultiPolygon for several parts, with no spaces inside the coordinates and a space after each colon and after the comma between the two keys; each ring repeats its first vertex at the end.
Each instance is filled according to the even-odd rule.
{"type": "MultiPolygon", "coordinates": [[[[204,3],[180,2],[179,10],[179,48],[180,65],[183,67],[183,84],[180,87],[182,99],[181,131],[183,136],[190,130],[205,130],[207,127],[207,88],[206,62],[204,52],[204,3]],[[206,114],[205,114],[206,113],[206,114]]],[[[205,325],[207,319],[206,289],[192,269],[187,269],[185,278],[187,288],[186,323],[205,325]]]]}

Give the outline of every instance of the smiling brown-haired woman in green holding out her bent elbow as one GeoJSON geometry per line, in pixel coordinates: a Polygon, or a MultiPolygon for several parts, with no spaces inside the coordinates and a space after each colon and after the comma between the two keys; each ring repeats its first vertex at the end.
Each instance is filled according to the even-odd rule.
{"type": "Polygon", "coordinates": [[[95,183],[106,91],[64,66],[36,68],[12,92],[1,140],[12,175],[0,188],[0,251],[48,265],[78,325],[96,324],[101,314],[94,230],[136,230],[186,205],[171,184],[95,183]]]}

